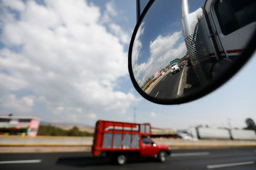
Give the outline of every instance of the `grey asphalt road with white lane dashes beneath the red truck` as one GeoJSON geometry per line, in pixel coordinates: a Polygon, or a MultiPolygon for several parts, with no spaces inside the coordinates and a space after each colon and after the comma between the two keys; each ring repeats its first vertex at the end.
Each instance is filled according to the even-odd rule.
{"type": "Polygon", "coordinates": [[[0,169],[256,169],[256,147],[174,150],[166,163],[134,159],[115,165],[89,152],[51,154],[0,154],[0,169]]]}

